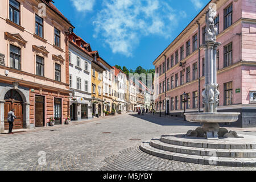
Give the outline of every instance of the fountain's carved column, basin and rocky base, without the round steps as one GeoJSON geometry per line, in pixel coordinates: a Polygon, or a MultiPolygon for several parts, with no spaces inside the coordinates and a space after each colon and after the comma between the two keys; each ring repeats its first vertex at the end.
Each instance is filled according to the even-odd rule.
{"type": "Polygon", "coordinates": [[[189,130],[188,137],[207,137],[218,139],[218,137],[238,137],[234,131],[220,129],[219,123],[236,122],[240,113],[217,113],[218,91],[216,51],[221,43],[216,42],[217,28],[214,27],[216,11],[209,7],[205,22],[207,32],[205,34],[205,90],[203,92],[204,113],[186,113],[189,122],[203,123],[203,127],[196,131],[189,130]]]}

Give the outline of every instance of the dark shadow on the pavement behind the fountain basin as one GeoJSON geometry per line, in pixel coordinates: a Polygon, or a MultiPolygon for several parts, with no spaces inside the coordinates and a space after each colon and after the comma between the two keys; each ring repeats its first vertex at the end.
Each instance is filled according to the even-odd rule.
{"type": "Polygon", "coordinates": [[[155,123],[156,125],[161,126],[200,126],[200,123],[191,123],[188,121],[182,121],[180,118],[168,118],[162,117],[160,118],[159,115],[152,115],[151,113],[147,113],[144,115],[138,114],[129,114],[133,117],[144,119],[145,121],[155,123]]]}

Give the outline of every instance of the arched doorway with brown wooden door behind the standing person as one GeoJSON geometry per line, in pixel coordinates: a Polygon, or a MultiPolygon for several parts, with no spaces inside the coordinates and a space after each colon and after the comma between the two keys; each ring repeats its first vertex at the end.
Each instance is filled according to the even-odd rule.
{"type": "Polygon", "coordinates": [[[14,119],[13,129],[23,129],[23,111],[22,111],[23,100],[20,94],[11,89],[5,94],[5,130],[9,128],[9,122],[7,122],[8,113],[11,109],[15,109],[14,114],[16,119],[14,119]]]}

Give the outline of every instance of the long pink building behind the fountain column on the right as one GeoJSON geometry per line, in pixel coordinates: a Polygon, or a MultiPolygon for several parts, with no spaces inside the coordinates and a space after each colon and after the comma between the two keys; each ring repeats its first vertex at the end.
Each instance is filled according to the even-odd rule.
{"type": "Polygon", "coordinates": [[[218,28],[217,42],[221,43],[217,49],[218,111],[240,112],[239,120],[232,125],[255,127],[256,1],[210,1],[159,55],[153,63],[155,109],[174,117],[183,116],[184,105],[185,112],[204,111],[201,93],[204,89],[205,12],[211,3],[216,4],[214,23],[218,28]]]}

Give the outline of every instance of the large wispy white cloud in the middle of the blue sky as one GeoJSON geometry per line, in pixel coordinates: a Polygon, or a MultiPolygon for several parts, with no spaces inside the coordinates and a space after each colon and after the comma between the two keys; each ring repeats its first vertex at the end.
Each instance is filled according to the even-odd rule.
{"type": "Polygon", "coordinates": [[[94,38],[100,38],[113,53],[132,56],[143,36],[170,38],[179,15],[162,0],[104,0],[93,24],[94,38]]]}

